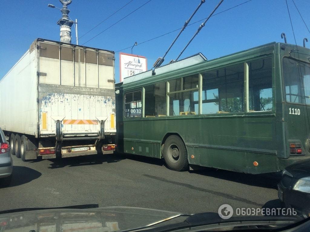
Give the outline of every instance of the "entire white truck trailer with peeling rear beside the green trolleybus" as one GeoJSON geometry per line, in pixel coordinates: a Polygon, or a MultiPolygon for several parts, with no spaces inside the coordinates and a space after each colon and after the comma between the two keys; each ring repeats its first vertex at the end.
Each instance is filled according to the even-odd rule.
{"type": "Polygon", "coordinates": [[[24,161],[115,150],[114,52],[36,39],[0,80],[0,127],[24,161]]]}

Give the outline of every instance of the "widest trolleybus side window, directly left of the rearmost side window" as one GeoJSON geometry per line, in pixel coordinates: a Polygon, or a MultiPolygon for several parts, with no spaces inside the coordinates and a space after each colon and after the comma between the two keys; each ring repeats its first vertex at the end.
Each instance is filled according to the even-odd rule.
{"type": "Polygon", "coordinates": [[[244,64],[202,73],[202,114],[243,112],[244,64]]]}

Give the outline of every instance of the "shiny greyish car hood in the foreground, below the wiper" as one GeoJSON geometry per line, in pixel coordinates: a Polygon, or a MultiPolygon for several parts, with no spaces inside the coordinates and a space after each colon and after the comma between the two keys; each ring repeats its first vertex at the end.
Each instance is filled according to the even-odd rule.
{"type": "Polygon", "coordinates": [[[112,232],[148,226],[179,215],[180,213],[132,207],[41,209],[0,214],[0,231],[112,232]]]}

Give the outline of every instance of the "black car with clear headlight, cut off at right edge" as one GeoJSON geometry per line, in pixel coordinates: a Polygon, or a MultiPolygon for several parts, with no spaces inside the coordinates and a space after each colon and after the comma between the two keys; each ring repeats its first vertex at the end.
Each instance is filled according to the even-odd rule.
{"type": "Polygon", "coordinates": [[[296,162],[283,170],[278,197],[286,208],[310,217],[310,159],[296,162]]]}

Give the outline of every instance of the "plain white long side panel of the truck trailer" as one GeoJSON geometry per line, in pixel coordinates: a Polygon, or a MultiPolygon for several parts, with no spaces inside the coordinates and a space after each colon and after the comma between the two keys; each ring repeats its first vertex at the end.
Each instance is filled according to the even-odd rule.
{"type": "Polygon", "coordinates": [[[38,137],[37,50],[28,50],[0,81],[0,127],[38,137]]]}

